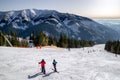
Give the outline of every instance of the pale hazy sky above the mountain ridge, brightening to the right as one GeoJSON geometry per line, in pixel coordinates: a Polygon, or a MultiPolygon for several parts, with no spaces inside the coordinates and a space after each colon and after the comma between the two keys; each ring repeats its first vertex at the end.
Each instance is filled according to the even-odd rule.
{"type": "Polygon", "coordinates": [[[120,18],[120,0],[0,0],[0,11],[33,8],[86,17],[120,18]]]}

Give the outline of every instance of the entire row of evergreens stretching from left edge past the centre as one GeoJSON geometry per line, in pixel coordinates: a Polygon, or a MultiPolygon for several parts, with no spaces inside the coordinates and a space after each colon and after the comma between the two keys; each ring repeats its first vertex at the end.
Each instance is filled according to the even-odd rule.
{"type": "MultiPolygon", "coordinates": [[[[4,33],[4,35],[6,35],[4,33]]],[[[11,32],[7,38],[11,42],[13,46],[22,46],[27,47],[28,41],[26,39],[19,40],[17,35],[11,32]]],[[[69,39],[65,34],[60,34],[59,39],[51,36],[47,36],[46,34],[41,31],[39,34],[35,34],[34,32],[31,33],[29,40],[32,40],[34,46],[46,46],[46,45],[53,45],[62,48],[81,48],[81,47],[89,47],[95,45],[92,41],[87,40],[76,40],[76,39],[69,39]]],[[[5,42],[4,37],[0,34],[0,46],[7,45],[8,43],[5,42]]]]}

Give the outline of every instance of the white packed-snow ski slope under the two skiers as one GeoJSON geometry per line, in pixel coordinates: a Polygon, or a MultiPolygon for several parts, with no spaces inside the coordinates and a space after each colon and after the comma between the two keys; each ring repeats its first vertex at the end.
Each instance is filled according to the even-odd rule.
{"type": "Polygon", "coordinates": [[[70,51],[0,47],[0,80],[120,80],[120,56],[105,51],[104,44],[70,51]],[[46,77],[40,73],[41,59],[46,61],[46,77]],[[53,59],[59,73],[52,70],[53,59]]]}

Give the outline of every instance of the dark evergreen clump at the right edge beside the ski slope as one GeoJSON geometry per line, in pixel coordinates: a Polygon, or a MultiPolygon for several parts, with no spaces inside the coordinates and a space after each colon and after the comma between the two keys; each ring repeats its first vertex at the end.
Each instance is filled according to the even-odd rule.
{"type": "Polygon", "coordinates": [[[114,54],[120,54],[120,41],[107,41],[105,44],[105,50],[114,54]]]}

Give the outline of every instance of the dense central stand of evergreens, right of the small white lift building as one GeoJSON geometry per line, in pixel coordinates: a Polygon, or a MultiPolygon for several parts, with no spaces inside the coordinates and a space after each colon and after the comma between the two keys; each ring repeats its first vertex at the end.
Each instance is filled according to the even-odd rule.
{"type": "Polygon", "coordinates": [[[69,39],[65,34],[60,34],[60,38],[46,36],[42,31],[40,35],[35,36],[34,32],[30,35],[30,40],[35,46],[54,45],[62,48],[81,48],[95,45],[92,41],[69,39]]]}

